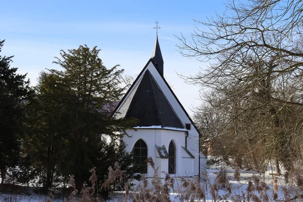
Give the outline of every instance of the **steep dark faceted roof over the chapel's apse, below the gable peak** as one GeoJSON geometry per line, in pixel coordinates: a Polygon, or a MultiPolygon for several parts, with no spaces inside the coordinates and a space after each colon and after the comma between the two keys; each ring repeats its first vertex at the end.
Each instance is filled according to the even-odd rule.
{"type": "Polygon", "coordinates": [[[148,70],[136,88],[125,118],[138,119],[136,126],[184,128],[148,70]]]}

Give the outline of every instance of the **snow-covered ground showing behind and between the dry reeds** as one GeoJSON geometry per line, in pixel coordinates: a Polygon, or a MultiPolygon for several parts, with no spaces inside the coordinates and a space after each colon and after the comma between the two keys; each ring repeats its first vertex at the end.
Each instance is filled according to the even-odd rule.
{"type": "MultiPolygon", "coordinates": [[[[209,182],[211,184],[214,183],[216,176],[219,173],[219,169],[209,169],[208,170],[208,178],[209,178],[209,182]]],[[[229,180],[231,189],[232,189],[232,193],[231,195],[241,195],[242,192],[246,193],[246,188],[248,186],[248,181],[251,180],[251,177],[253,175],[259,175],[258,173],[254,173],[251,171],[244,171],[241,170],[240,171],[240,183],[238,183],[235,178],[234,178],[234,171],[233,170],[227,170],[227,179],[229,180]]],[[[266,184],[269,186],[269,190],[266,192],[266,194],[268,195],[269,198],[272,198],[273,195],[273,177],[272,175],[270,175],[269,173],[266,173],[262,176],[260,176],[261,181],[266,182],[266,184]]],[[[181,182],[180,182],[181,183],[181,182]]],[[[284,179],[283,177],[279,177],[278,178],[278,199],[282,199],[283,196],[283,187],[285,183],[284,183],[284,179]]],[[[296,191],[297,188],[296,187],[290,187],[287,186],[290,195],[293,195],[296,191]]],[[[219,189],[219,195],[224,196],[225,194],[227,194],[227,192],[223,189],[219,189]]],[[[255,194],[258,195],[258,192],[255,191],[255,194]]],[[[124,195],[125,193],[116,193],[113,197],[113,199],[111,199],[110,201],[124,201],[124,195]]],[[[259,196],[259,195],[258,195],[259,196]]],[[[31,194],[31,195],[18,195],[18,194],[9,194],[9,193],[0,193],[0,201],[7,201],[7,202],[42,202],[42,201],[46,201],[47,199],[47,195],[38,195],[38,194],[31,194]]],[[[180,201],[180,193],[174,193],[171,190],[170,193],[170,198],[172,201],[180,201]]],[[[64,199],[52,199],[52,201],[64,201],[64,199]]],[[[131,201],[131,200],[129,200],[131,201]]],[[[197,200],[196,200],[197,201],[197,200]]],[[[208,190],[207,194],[206,194],[206,201],[212,201],[212,196],[210,191],[208,190]]],[[[271,201],[271,200],[270,200],[271,201]]]]}

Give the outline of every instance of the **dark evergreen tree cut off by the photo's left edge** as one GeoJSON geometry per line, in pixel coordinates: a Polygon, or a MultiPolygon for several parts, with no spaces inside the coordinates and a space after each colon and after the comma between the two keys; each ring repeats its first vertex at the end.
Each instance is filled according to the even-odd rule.
{"type": "MultiPolygon", "coordinates": [[[[0,40],[0,53],[4,40],[0,40]]],[[[7,169],[17,164],[23,135],[25,104],[31,95],[29,80],[11,68],[11,57],[0,55],[0,171],[2,182],[7,169]]]]}

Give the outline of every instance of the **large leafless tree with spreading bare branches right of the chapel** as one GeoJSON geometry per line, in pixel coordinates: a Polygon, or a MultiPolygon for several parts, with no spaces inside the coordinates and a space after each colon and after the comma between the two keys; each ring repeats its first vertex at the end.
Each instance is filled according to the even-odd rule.
{"type": "Polygon", "coordinates": [[[272,159],[301,165],[302,12],[302,1],[228,1],[222,15],[195,21],[189,40],[179,37],[183,56],[210,63],[183,78],[211,90],[202,96],[225,117],[212,134],[259,171],[272,159]]]}

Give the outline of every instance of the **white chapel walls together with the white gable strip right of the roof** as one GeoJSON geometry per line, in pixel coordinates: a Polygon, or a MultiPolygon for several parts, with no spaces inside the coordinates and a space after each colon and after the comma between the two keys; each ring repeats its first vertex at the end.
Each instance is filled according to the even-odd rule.
{"type": "MultiPolygon", "coordinates": [[[[156,82],[160,86],[161,90],[165,94],[170,105],[173,107],[175,113],[177,114],[177,116],[179,117],[179,119],[181,120],[183,125],[185,125],[186,123],[191,123],[190,120],[188,119],[187,115],[184,113],[183,109],[181,108],[181,106],[179,105],[179,103],[177,102],[175,97],[173,96],[172,92],[167,87],[166,83],[163,81],[160,74],[154,67],[153,63],[150,62],[146,69],[148,69],[150,71],[150,73],[153,75],[153,77],[155,78],[156,82]]],[[[145,71],[146,71],[146,69],[145,69],[145,71]]],[[[142,75],[144,75],[144,72],[142,73],[142,75]]],[[[177,138],[177,139],[179,138],[179,135],[175,135],[175,133],[171,134],[171,132],[168,132],[168,130],[157,130],[156,133],[155,133],[155,129],[154,130],[138,129],[138,132],[139,132],[139,130],[142,130],[142,132],[140,132],[140,134],[131,130],[128,133],[129,133],[129,135],[133,135],[133,137],[131,137],[131,138],[124,137],[124,141],[126,142],[126,144],[128,144],[127,149],[128,149],[128,151],[131,151],[134,143],[139,139],[139,136],[140,136],[148,145],[148,156],[152,157],[154,160],[157,158],[155,143],[159,146],[162,146],[163,144],[165,144],[166,148],[168,149],[170,140],[174,139],[174,138],[177,138]],[[165,135],[163,135],[162,137],[159,136],[162,133],[160,131],[166,131],[166,132],[163,132],[163,134],[165,133],[165,135]]],[[[185,160],[184,158],[183,158],[183,160],[179,159],[180,154],[178,155],[178,152],[180,150],[180,144],[183,144],[182,146],[185,146],[184,132],[179,131],[178,134],[182,133],[183,135],[180,135],[180,140],[176,140],[175,143],[176,143],[176,146],[178,145],[177,146],[177,173],[180,176],[188,175],[188,173],[185,173],[184,171],[186,170],[186,172],[187,172],[187,171],[191,170],[190,169],[190,168],[192,168],[191,164],[193,164],[193,168],[192,168],[193,175],[199,174],[198,173],[199,166],[200,166],[200,170],[206,169],[206,166],[203,167],[203,165],[206,165],[205,162],[204,161],[201,162],[201,160],[203,159],[203,155],[200,156],[200,165],[199,165],[199,156],[198,156],[198,139],[199,139],[198,136],[199,135],[198,135],[198,132],[195,130],[195,128],[193,126],[191,126],[191,130],[189,130],[188,132],[189,132],[189,135],[187,137],[187,149],[190,151],[191,154],[193,154],[195,156],[195,159],[193,159],[193,160],[188,160],[188,159],[185,160]],[[181,136],[182,136],[182,138],[181,138],[181,136]],[[181,162],[181,164],[179,164],[179,162],[181,162]]],[[[161,162],[161,165],[159,165],[159,166],[161,166],[161,169],[164,169],[165,166],[164,166],[163,161],[160,161],[160,162],[161,162]]],[[[148,172],[149,172],[148,176],[153,175],[153,172],[151,172],[150,169],[148,169],[148,172]]]]}

